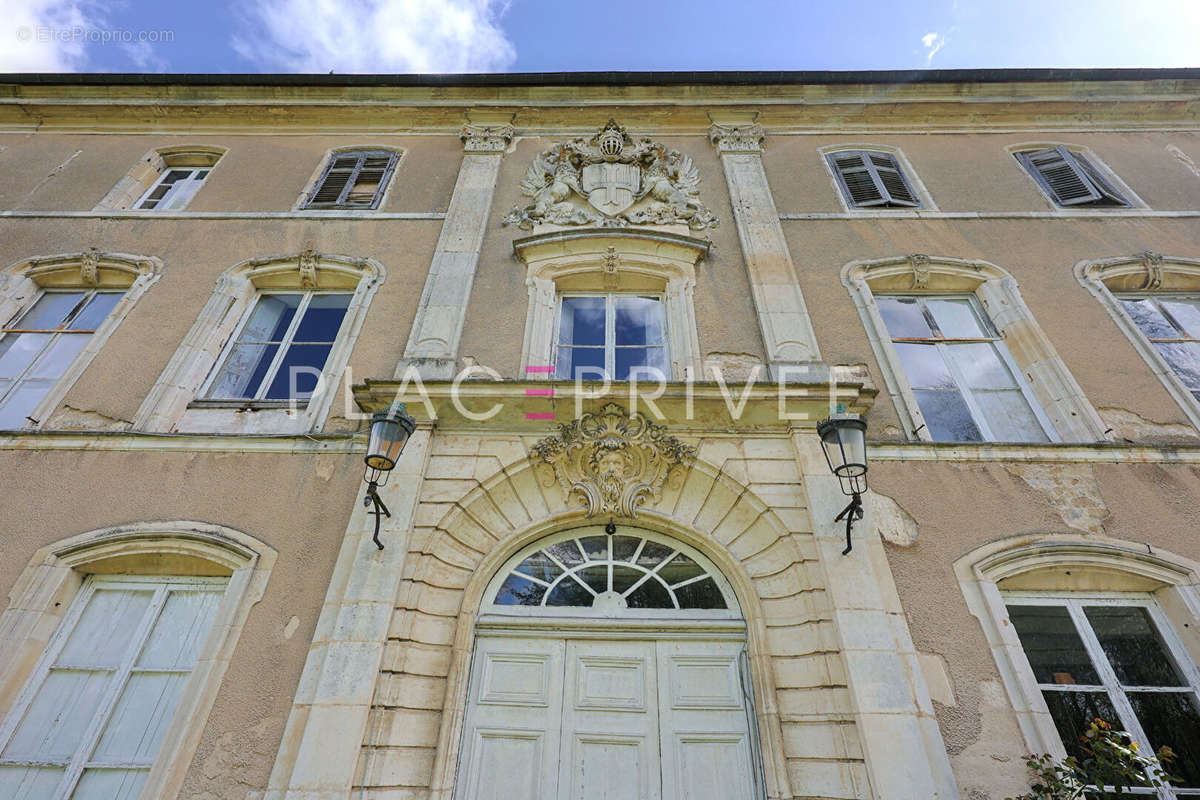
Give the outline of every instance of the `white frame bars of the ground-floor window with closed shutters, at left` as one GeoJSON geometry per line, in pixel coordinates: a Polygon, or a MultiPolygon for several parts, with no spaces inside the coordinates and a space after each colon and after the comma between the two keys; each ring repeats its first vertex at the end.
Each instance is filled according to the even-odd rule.
{"type": "MultiPolygon", "coordinates": [[[[170,594],[173,588],[220,585],[221,600],[223,600],[224,593],[228,590],[229,578],[212,577],[212,576],[89,575],[84,579],[79,591],[76,594],[74,597],[72,597],[71,607],[67,609],[67,613],[59,622],[59,626],[55,628],[54,634],[50,637],[50,640],[47,643],[46,650],[42,654],[41,660],[34,668],[34,672],[30,674],[29,679],[25,681],[25,686],[22,688],[20,694],[17,697],[12,706],[8,709],[8,712],[5,715],[2,726],[0,726],[0,752],[4,751],[4,748],[12,740],[12,736],[16,734],[17,729],[20,727],[20,722],[24,720],[25,714],[29,711],[34,700],[37,698],[38,692],[41,691],[47,676],[49,675],[50,669],[54,667],[55,660],[62,651],[62,648],[66,645],[67,639],[70,639],[71,634],[74,633],[74,631],[77,630],[80,618],[83,616],[83,613],[86,609],[88,603],[95,595],[95,593],[102,588],[143,587],[148,584],[155,587],[150,606],[146,608],[145,612],[143,612],[143,618],[138,624],[138,628],[130,640],[128,650],[121,655],[120,663],[115,668],[113,668],[110,682],[106,687],[101,698],[98,699],[95,711],[89,717],[86,727],[84,728],[84,733],[80,735],[79,744],[76,747],[76,751],[67,759],[67,763],[64,766],[62,777],[59,778],[56,793],[52,798],[52,800],[68,800],[72,793],[74,793],[74,790],[78,788],[84,770],[86,770],[89,766],[98,765],[101,769],[106,766],[109,768],[121,766],[119,764],[106,764],[100,762],[92,762],[91,756],[96,746],[100,744],[100,740],[104,734],[107,724],[113,718],[112,715],[116,709],[118,702],[121,699],[121,692],[127,686],[133,672],[138,669],[136,666],[137,656],[140,654],[142,648],[145,645],[150,636],[150,632],[154,630],[154,625],[157,621],[162,612],[162,608],[166,604],[167,596],[170,594]]],[[[217,601],[218,607],[221,600],[217,601]]],[[[212,618],[209,620],[209,630],[204,636],[205,642],[208,640],[209,637],[214,636],[215,633],[214,627],[216,626],[217,616],[218,616],[217,610],[214,609],[212,618]]],[[[204,646],[205,643],[200,643],[198,652],[203,651],[204,646]]],[[[149,672],[184,673],[185,670],[150,669],[149,672]]],[[[190,667],[186,670],[187,678],[185,678],[185,684],[194,672],[196,672],[196,664],[193,663],[192,667],[190,667]]],[[[180,694],[182,697],[182,692],[180,692],[180,694]]],[[[180,705],[182,704],[179,700],[176,700],[175,710],[172,711],[170,720],[167,721],[167,728],[164,728],[163,730],[164,734],[166,729],[169,729],[172,722],[174,721],[175,715],[179,714],[180,705]]],[[[158,742],[158,747],[155,751],[154,758],[151,759],[150,764],[144,768],[138,766],[137,769],[144,769],[144,771],[149,776],[150,771],[155,768],[155,764],[158,762],[162,754],[164,744],[166,744],[166,736],[163,736],[163,739],[158,742]]],[[[7,765],[36,766],[40,764],[47,764],[47,762],[5,759],[0,760],[0,764],[6,766],[7,765]]],[[[132,769],[131,764],[125,764],[124,766],[126,766],[127,770],[132,769]]]]}

